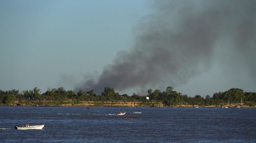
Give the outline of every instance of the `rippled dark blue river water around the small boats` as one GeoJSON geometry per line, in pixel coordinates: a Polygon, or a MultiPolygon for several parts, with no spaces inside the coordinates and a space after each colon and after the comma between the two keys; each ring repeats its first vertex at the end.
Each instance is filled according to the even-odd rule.
{"type": "Polygon", "coordinates": [[[255,143],[256,108],[0,107],[0,142],[255,143]]]}

